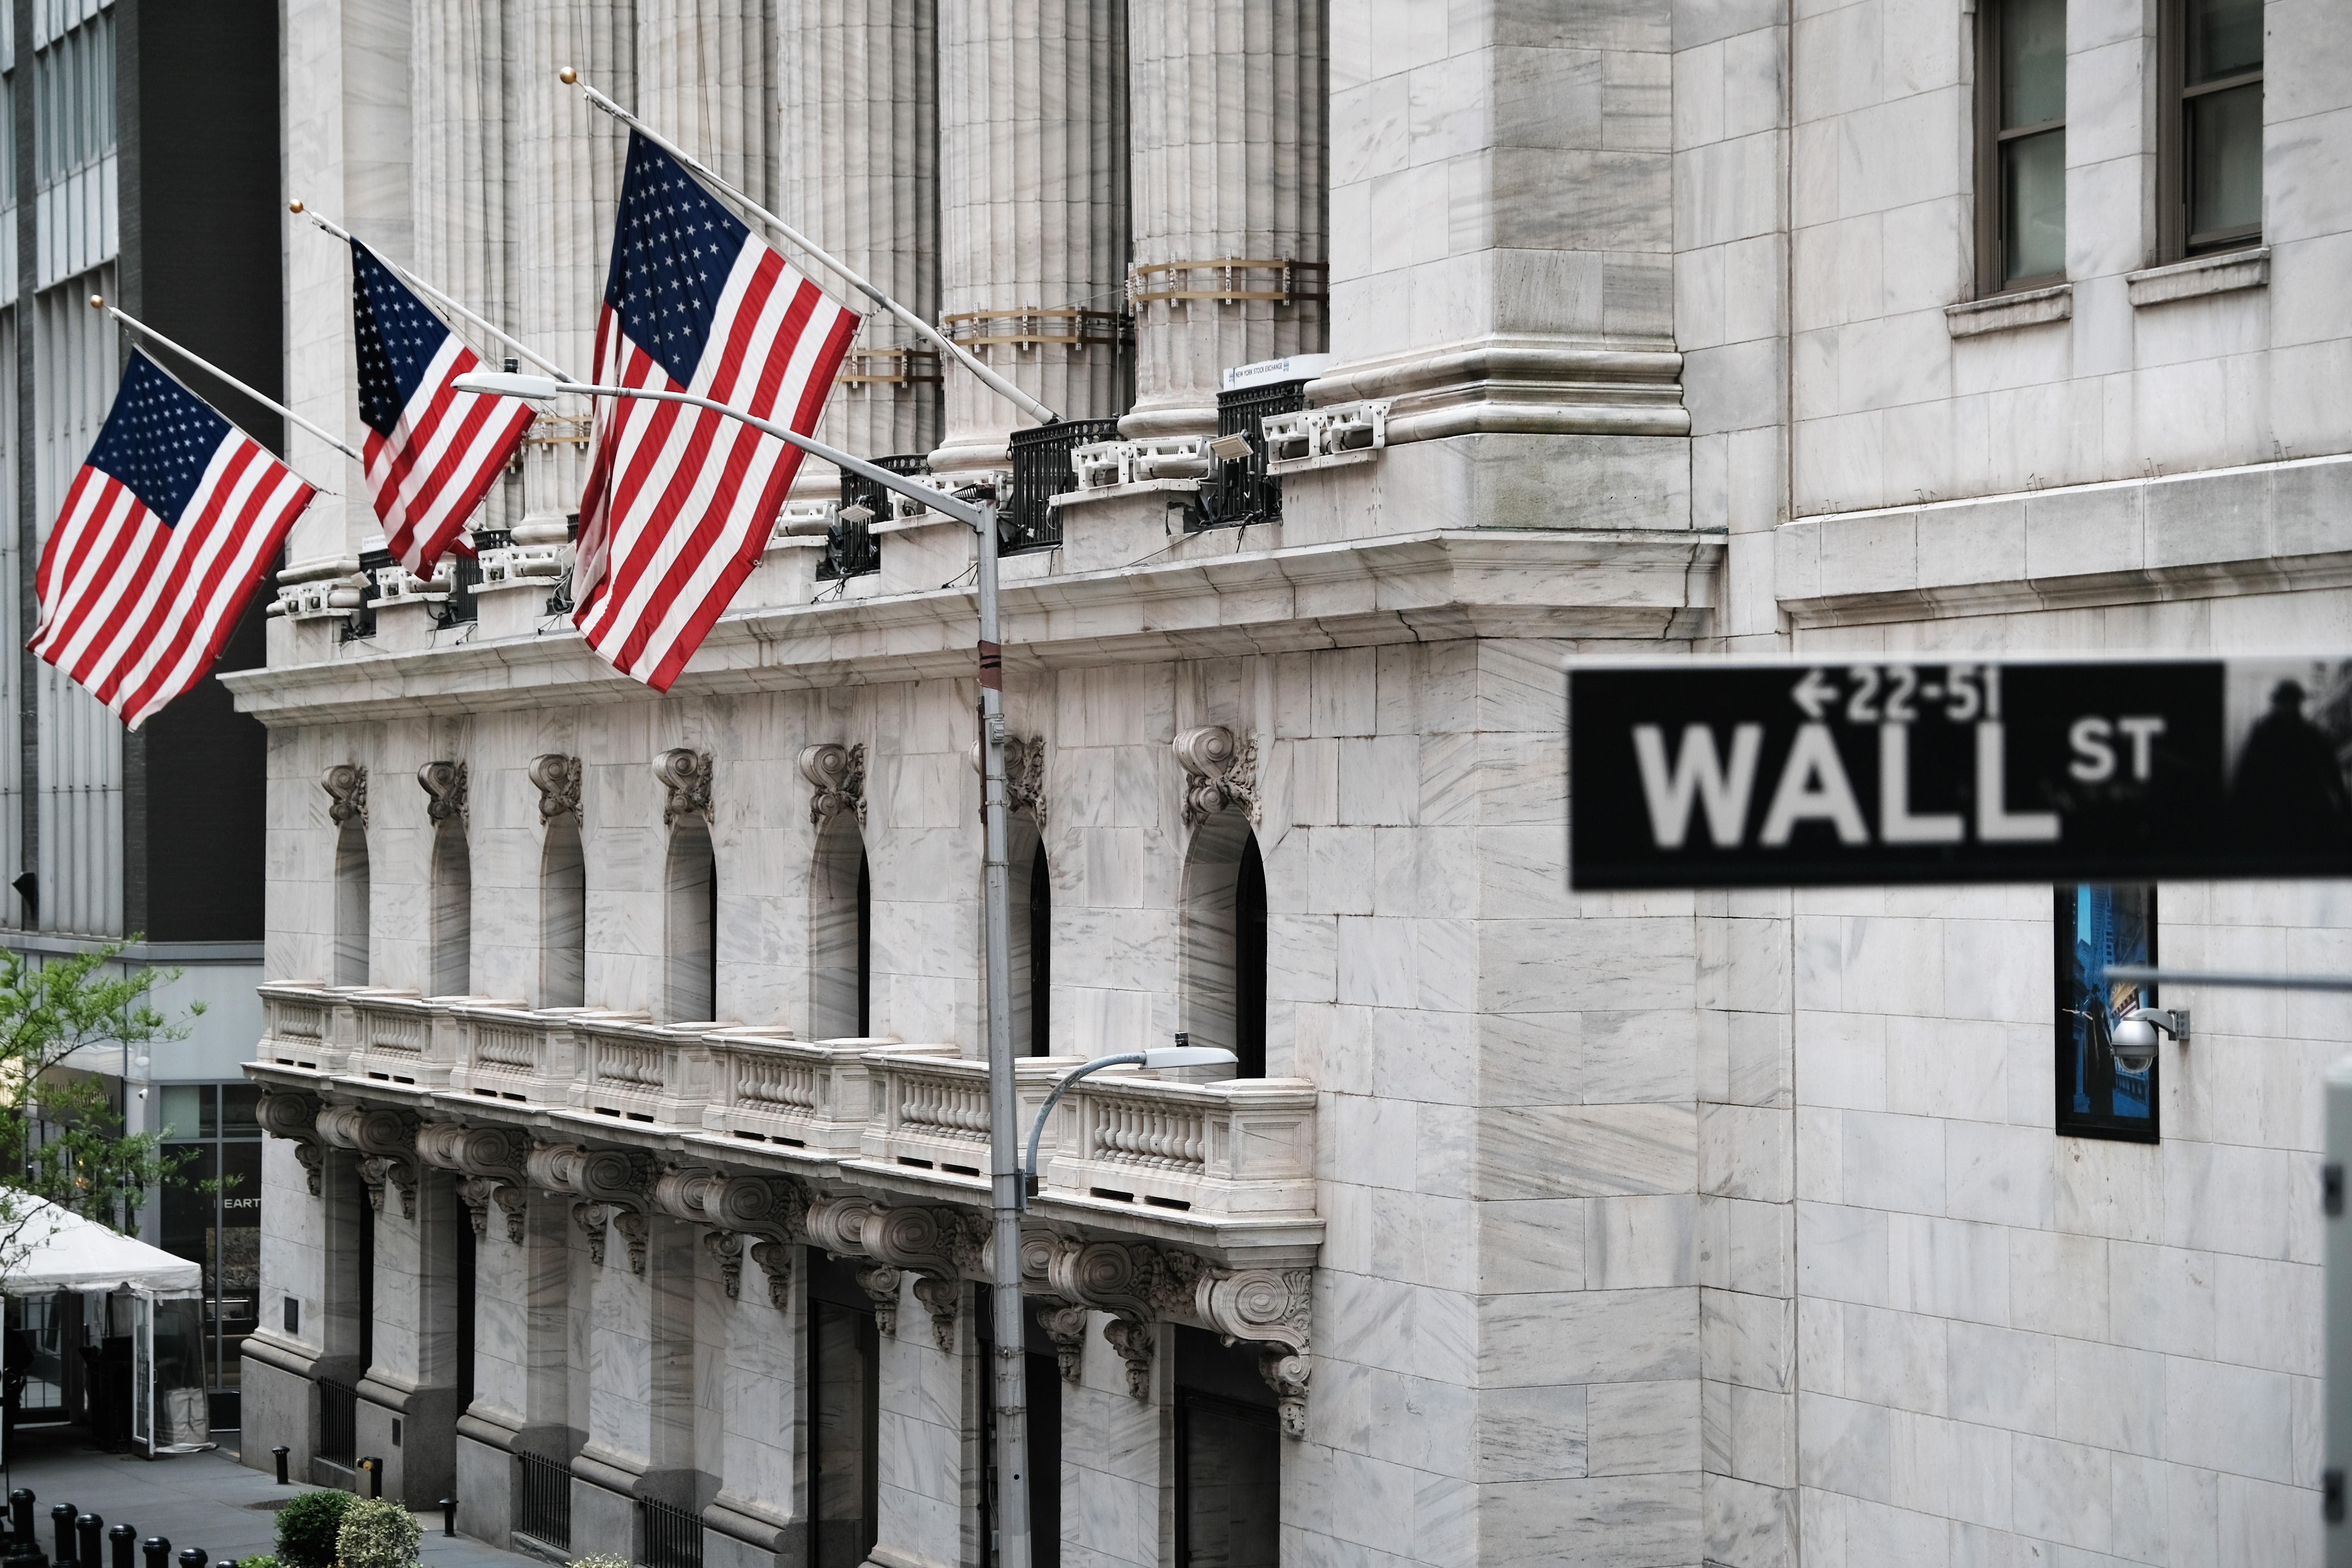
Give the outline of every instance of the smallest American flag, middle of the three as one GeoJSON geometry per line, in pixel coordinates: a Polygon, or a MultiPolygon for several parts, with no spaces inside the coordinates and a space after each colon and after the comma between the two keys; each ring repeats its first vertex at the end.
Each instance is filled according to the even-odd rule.
{"type": "Polygon", "coordinates": [[[350,308],[367,491],[386,548],[402,567],[428,576],[515,456],[532,404],[454,390],[449,383],[482,360],[358,240],[350,242],[350,308]]]}

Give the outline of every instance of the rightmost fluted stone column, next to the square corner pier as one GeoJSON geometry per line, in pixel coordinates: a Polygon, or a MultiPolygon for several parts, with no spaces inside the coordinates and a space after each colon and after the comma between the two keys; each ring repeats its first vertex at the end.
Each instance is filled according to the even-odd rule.
{"type": "Polygon", "coordinates": [[[1214,433],[1228,364],[1327,343],[1322,9],[1319,0],[1127,5],[1136,181],[1127,435],[1214,433]],[[1197,266],[1209,261],[1247,266],[1197,266]],[[1211,299],[1167,299],[1176,294],[1211,299]]]}

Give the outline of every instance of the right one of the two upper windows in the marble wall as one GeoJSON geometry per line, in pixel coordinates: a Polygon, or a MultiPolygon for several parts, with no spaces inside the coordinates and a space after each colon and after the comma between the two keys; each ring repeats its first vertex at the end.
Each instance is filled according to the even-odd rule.
{"type": "Polygon", "coordinates": [[[2159,179],[2171,256],[2263,237],[2263,0],[2171,0],[2159,179]]]}

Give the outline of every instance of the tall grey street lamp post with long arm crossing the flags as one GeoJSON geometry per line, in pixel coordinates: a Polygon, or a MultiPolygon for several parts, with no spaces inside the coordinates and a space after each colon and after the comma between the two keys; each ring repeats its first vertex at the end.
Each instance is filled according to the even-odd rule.
{"type": "Polygon", "coordinates": [[[997,1561],[1007,1568],[1025,1568],[1030,1561],[1028,1519],[1028,1380],[1023,1378],[1021,1347],[1021,1103],[1014,1095],[1014,1025],[1011,1025],[1011,905],[1007,882],[1004,846],[1004,646],[997,639],[997,505],[993,498],[964,501],[915,484],[906,475],[854,458],[847,451],[811,440],[790,425],[760,418],[746,409],[696,397],[694,393],[666,393],[635,386],[583,386],[579,381],[555,381],[553,376],[517,376],[513,371],[477,371],[454,381],[461,393],[487,393],[492,397],[522,397],[546,402],[564,393],[586,397],[637,397],[644,402],[682,402],[710,409],[727,418],[739,418],[779,442],[800,447],[811,458],[833,463],[844,473],[908,496],[920,505],[943,512],[978,534],[978,599],[981,599],[981,820],[985,832],[985,877],[981,924],[988,950],[988,1274],[997,1288],[990,1293],[995,1307],[995,1387],[997,1387],[997,1561]]]}

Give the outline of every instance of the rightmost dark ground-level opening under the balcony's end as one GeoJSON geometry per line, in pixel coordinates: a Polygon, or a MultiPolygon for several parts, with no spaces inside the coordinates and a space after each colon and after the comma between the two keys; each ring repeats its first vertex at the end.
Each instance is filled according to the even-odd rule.
{"type": "Polygon", "coordinates": [[[1171,1328],[1176,1352],[1176,1568],[1277,1568],[1282,1425],[1258,1352],[1171,1328]]]}

